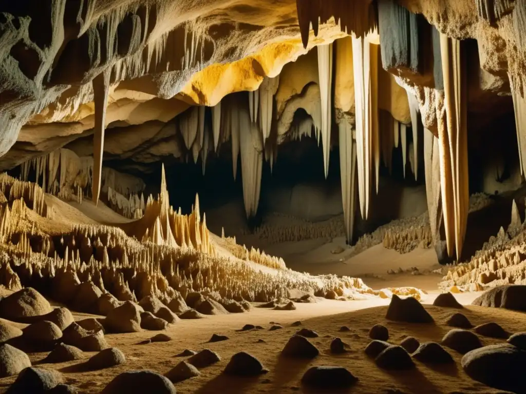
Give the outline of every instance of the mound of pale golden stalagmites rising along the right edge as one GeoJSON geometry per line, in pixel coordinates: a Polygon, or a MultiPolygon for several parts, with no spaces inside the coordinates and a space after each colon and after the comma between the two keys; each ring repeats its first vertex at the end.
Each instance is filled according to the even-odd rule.
{"type": "Polygon", "coordinates": [[[487,287],[526,284],[526,230],[515,201],[507,230],[500,228],[471,261],[449,269],[440,286],[452,291],[478,291],[487,287]]]}

